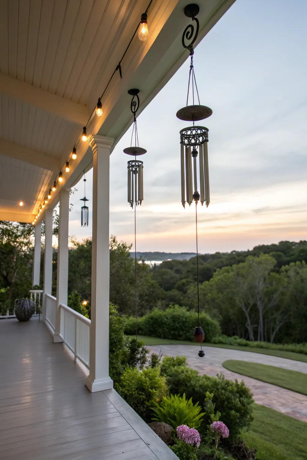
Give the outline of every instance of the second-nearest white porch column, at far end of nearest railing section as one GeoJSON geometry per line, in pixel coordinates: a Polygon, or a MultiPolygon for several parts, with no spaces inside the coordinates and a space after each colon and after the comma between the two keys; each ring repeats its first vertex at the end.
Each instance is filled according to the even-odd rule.
{"type": "Polygon", "coordinates": [[[57,272],[57,304],[55,311],[55,331],[53,342],[63,342],[61,332],[60,304],[67,305],[68,291],[68,221],[70,207],[70,190],[60,191],[60,214],[58,221],[58,272],[57,272]]]}

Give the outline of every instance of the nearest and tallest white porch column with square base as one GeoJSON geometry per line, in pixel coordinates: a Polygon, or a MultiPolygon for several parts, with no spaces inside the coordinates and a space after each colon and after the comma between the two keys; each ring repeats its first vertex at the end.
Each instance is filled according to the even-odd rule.
{"type": "Polygon", "coordinates": [[[109,203],[110,149],[113,138],[90,136],[93,150],[93,236],[90,372],[85,384],[90,391],[113,388],[109,376],[109,203]]]}

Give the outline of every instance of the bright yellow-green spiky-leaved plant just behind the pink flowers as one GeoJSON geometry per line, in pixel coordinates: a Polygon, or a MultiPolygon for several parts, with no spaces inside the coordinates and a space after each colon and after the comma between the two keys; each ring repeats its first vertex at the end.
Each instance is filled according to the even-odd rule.
{"type": "Polygon", "coordinates": [[[170,395],[163,397],[161,403],[155,403],[152,420],[164,422],[173,426],[174,430],[180,425],[189,428],[199,428],[203,420],[204,413],[198,403],[193,404],[192,398],[186,399],[183,396],[170,395]]]}

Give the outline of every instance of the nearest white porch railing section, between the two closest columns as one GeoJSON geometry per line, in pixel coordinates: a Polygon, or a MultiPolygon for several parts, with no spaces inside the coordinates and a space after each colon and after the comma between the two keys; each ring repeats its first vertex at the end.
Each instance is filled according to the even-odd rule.
{"type": "Polygon", "coordinates": [[[64,344],[89,369],[90,365],[90,326],[91,320],[72,310],[67,305],[60,305],[61,336],[64,344]]]}

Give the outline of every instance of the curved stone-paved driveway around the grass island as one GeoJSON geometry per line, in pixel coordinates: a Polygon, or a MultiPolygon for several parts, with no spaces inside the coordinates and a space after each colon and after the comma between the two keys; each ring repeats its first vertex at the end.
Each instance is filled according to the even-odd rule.
{"type": "MultiPolygon", "coordinates": [[[[222,363],[227,359],[249,362],[259,362],[284,369],[290,369],[307,374],[307,363],[294,361],[270,355],[262,355],[250,351],[230,350],[227,348],[214,348],[203,346],[205,356],[198,357],[196,345],[155,345],[147,346],[151,353],[162,351],[163,356],[185,356],[188,364],[197,369],[200,374],[216,375],[223,373],[227,379],[244,380],[251,389],[255,402],[263,406],[278,410],[298,420],[307,422],[307,396],[286,390],[276,385],[261,382],[245,375],[237,374],[223,368],[222,363]]],[[[307,385],[307,376],[306,376],[307,385]]]]}

